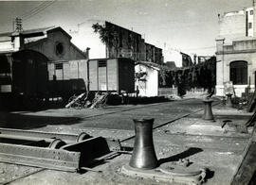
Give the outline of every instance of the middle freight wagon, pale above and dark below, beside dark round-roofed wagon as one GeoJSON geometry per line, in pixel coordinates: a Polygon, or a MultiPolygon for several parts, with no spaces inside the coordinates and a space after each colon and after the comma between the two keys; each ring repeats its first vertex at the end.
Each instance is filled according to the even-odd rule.
{"type": "Polygon", "coordinates": [[[49,61],[50,98],[62,97],[66,102],[70,96],[86,92],[87,60],[49,61]]]}

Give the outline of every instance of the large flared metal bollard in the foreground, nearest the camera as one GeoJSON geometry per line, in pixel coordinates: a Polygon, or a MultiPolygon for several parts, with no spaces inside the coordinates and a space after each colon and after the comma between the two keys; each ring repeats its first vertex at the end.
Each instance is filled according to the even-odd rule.
{"type": "Polygon", "coordinates": [[[154,169],[158,166],[153,143],[154,119],[134,119],[136,138],[129,165],[139,169],[154,169]]]}

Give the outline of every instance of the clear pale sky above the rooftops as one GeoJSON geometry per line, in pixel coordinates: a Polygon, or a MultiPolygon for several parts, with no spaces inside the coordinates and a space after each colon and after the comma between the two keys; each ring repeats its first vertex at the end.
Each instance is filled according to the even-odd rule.
{"type": "Polygon", "coordinates": [[[23,18],[24,29],[57,25],[67,32],[106,20],[140,33],[169,56],[214,55],[218,13],[247,7],[252,0],[0,1],[0,32],[11,31],[15,17],[23,18]]]}

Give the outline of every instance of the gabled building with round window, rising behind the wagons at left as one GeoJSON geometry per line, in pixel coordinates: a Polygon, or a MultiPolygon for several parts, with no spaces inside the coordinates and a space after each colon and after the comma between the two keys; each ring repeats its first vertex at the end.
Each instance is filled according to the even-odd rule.
{"type": "Polygon", "coordinates": [[[72,37],[62,27],[29,29],[0,34],[0,51],[29,49],[44,54],[49,61],[86,59],[72,37]]]}

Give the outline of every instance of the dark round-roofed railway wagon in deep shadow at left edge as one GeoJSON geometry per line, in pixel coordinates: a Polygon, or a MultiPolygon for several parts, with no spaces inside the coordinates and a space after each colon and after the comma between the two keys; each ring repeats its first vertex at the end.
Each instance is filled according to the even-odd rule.
{"type": "Polygon", "coordinates": [[[46,101],[47,58],[32,50],[0,54],[0,105],[24,106],[46,101]]]}

